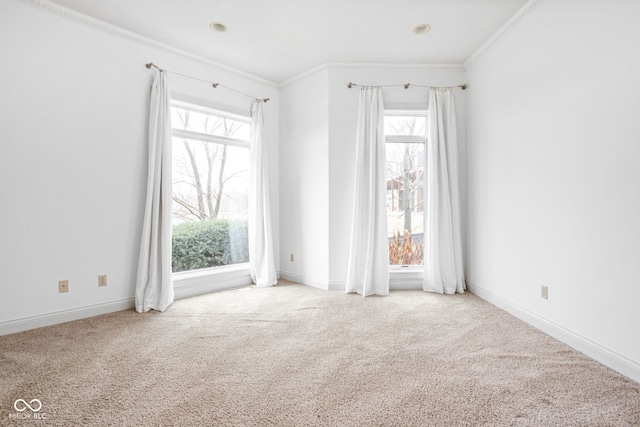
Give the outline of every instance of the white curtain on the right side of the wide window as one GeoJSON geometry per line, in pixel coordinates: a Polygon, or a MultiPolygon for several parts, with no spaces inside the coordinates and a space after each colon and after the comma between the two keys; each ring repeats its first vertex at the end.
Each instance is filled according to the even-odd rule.
{"type": "Polygon", "coordinates": [[[258,286],[278,283],[271,231],[268,147],[264,131],[263,101],[251,109],[249,167],[249,264],[251,278],[258,286]]]}

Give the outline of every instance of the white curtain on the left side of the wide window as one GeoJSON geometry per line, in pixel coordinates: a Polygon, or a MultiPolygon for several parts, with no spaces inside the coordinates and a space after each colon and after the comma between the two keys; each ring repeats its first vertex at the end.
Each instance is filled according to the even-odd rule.
{"type": "Polygon", "coordinates": [[[171,279],[171,110],[169,84],[156,71],[149,103],[149,167],[135,303],[139,313],[173,302],[171,279]]]}

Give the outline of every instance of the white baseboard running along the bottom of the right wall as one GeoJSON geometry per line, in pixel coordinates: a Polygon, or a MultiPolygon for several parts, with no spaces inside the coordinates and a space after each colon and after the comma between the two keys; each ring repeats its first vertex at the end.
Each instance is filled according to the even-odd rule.
{"type": "Polygon", "coordinates": [[[620,372],[632,380],[640,383],[640,363],[623,356],[616,351],[606,348],[596,342],[591,341],[569,329],[566,329],[548,319],[520,307],[506,299],[484,289],[474,283],[467,281],[467,289],[472,294],[495,305],[518,319],[528,323],[536,329],[551,335],[555,339],[562,341],[570,347],[586,354],[609,368],[620,372]]]}

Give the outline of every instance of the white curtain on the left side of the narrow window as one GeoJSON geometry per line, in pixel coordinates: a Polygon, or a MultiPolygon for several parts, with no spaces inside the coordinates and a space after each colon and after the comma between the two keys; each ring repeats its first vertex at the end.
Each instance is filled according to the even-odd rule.
{"type": "Polygon", "coordinates": [[[389,239],[382,89],[362,87],[356,135],[356,179],[347,293],[389,294],[389,239]]]}

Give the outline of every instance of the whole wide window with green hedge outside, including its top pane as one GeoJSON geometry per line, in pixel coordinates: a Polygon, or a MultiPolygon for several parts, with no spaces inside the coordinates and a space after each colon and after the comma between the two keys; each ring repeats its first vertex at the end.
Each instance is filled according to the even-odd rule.
{"type": "Polygon", "coordinates": [[[250,119],[173,101],[171,125],[173,272],[248,262],[250,119]]]}

